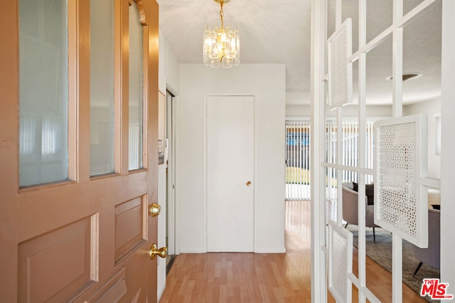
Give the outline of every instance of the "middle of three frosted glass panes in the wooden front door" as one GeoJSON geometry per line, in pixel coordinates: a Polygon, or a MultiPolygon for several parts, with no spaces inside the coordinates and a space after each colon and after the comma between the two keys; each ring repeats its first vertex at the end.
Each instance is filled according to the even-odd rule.
{"type": "Polygon", "coordinates": [[[90,1],[90,175],[114,172],[114,1],[90,1]]]}

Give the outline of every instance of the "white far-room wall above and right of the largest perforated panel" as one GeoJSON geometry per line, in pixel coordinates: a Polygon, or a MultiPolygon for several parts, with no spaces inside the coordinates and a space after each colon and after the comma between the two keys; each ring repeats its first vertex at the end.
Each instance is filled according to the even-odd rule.
{"type": "Polygon", "coordinates": [[[403,107],[403,116],[428,115],[428,177],[441,178],[441,156],[436,155],[436,118],[441,114],[441,100],[429,100],[403,107]]]}

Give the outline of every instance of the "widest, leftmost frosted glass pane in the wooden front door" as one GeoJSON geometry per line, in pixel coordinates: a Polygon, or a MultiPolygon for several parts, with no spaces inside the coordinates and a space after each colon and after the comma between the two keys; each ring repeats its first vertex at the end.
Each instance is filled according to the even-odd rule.
{"type": "Polygon", "coordinates": [[[68,179],[66,1],[19,1],[19,184],[68,179]]]}

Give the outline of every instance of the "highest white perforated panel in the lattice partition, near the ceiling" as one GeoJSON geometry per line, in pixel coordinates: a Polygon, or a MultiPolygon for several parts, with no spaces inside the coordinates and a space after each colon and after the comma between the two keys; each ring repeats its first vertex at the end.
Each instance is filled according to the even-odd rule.
{"type": "Polygon", "coordinates": [[[353,67],[348,62],[352,54],[351,19],[328,38],[328,107],[343,106],[352,101],[353,67]]]}

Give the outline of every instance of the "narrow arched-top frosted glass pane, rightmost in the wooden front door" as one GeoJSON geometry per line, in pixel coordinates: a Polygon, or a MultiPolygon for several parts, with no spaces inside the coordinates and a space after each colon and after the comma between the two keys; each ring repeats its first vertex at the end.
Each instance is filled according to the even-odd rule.
{"type": "Polygon", "coordinates": [[[133,1],[129,6],[129,170],[142,167],[142,26],[133,1]]]}

